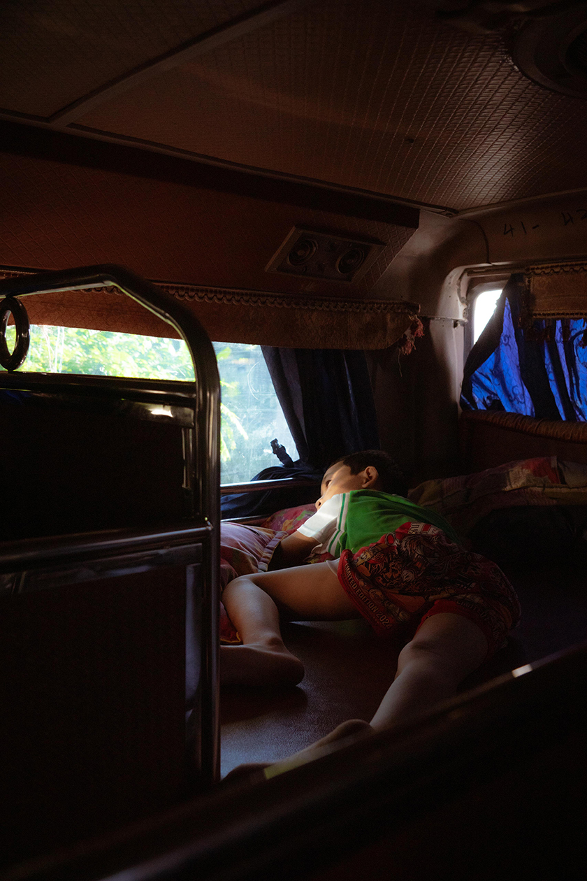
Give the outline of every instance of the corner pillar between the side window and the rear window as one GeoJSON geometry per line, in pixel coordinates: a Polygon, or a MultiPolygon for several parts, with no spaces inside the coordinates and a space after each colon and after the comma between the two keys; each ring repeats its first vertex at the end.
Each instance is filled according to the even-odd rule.
{"type": "Polygon", "coordinates": [[[458,267],[487,259],[478,224],[422,211],[418,230],[375,286],[381,296],[421,304],[424,335],[409,355],[398,348],[368,355],[381,443],[411,486],[459,473],[465,307],[458,267]]]}

